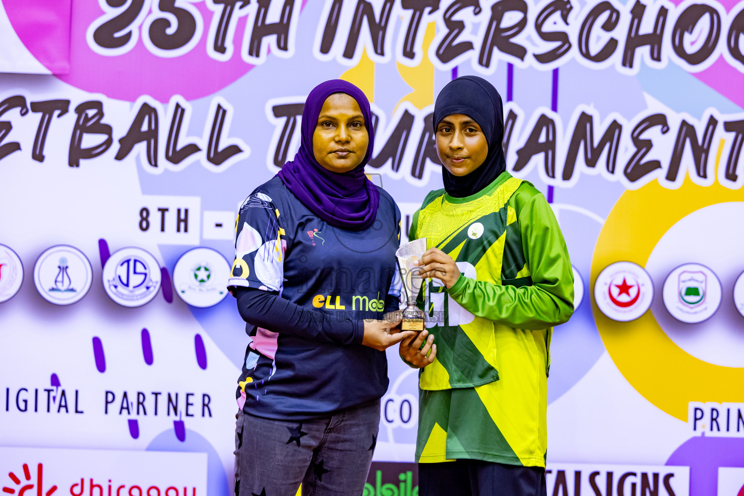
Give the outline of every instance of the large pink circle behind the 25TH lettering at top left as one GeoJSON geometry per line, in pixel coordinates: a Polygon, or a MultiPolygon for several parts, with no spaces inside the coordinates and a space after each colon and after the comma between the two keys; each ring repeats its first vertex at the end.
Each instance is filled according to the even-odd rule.
{"type": "MultiPolygon", "coordinates": [[[[172,58],[158,57],[145,48],[142,36],[138,36],[138,42],[131,51],[107,57],[92,51],[86,40],[86,31],[89,26],[104,15],[98,2],[75,1],[72,4],[70,24],[70,1],[28,0],[5,3],[15,4],[12,9],[6,7],[9,11],[10,22],[34,57],[48,58],[46,55],[48,51],[69,52],[68,71],[65,70],[68,74],[58,77],[77,88],[131,102],[137,100],[142,94],[149,94],[161,102],[167,102],[173,94],[181,94],[187,100],[194,100],[225,88],[254,67],[243,62],[240,57],[246,16],[240,17],[237,21],[235,36],[232,40],[235,51],[231,59],[226,62],[219,62],[207,54],[207,43],[214,42],[208,39],[209,25],[212,16],[217,15],[219,18],[220,13],[213,14],[206,7],[205,2],[194,4],[202,16],[204,32],[196,46],[187,54],[172,58]],[[26,4],[39,5],[39,7],[34,9],[23,7],[26,4]],[[45,17],[52,16],[52,11],[60,10],[57,4],[67,4],[68,8],[68,22],[65,25],[68,38],[64,45],[48,42],[45,36],[46,31],[54,32],[60,29],[56,25],[47,26],[49,19],[45,19],[45,17]],[[41,5],[50,7],[42,8],[41,5]],[[38,10],[40,13],[37,15],[43,15],[42,19],[29,22],[28,10],[38,10]],[[41,29],[39,22],[43,26],[41,29]]],[[[55,17],[51,19],[56,22],[57,14],[54,15],[55,17]]],[[[138,30],[141,30],[141,26],[138,30]]]]}

